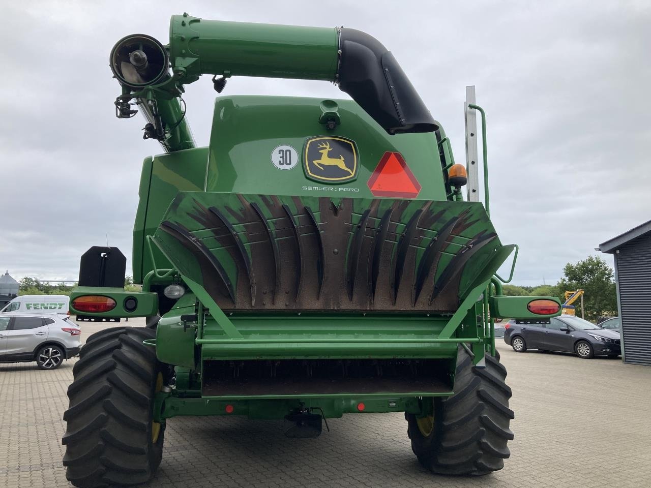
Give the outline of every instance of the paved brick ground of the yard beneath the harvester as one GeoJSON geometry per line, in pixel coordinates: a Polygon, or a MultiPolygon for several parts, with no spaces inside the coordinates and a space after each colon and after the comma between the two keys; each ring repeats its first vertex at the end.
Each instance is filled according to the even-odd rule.
{"type": "MultiPolygon", "coordinates": [[[[130,323],[137,325],[137,323],[130,323]]],[[[83,324],[83,336],[102,325],[83,324]]],[[[511,458],[482,478],[425,472],[402,414],[348,414],[318,439],[281,422],[174,418],[143,488],[651,486],[651,368],[619,360],[514,353],[499,343],[516,411],[511,458]]],[[[61,466],[73,361],[52,372],[0,365],[0,488],[69,487],[61,466]]]]}

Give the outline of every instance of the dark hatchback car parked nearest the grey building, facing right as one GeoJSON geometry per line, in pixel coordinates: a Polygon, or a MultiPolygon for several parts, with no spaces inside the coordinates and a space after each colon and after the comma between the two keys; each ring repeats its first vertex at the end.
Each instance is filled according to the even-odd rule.
{"type": "Polygon", "coordinates": [[[505,328],[504,342],[516,353],[542,349],[575,353],[585,359],[622,353],[619,332],[602,329],[574,315],[553,317],[547,324],[510,320],[505,328]]]}

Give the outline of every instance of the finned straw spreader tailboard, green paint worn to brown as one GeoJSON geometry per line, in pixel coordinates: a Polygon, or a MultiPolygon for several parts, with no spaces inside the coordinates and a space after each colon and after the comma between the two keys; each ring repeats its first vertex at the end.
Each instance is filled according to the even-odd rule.
{"type": "Polygon", "coordinates": [[[455,312],[511,249],[478,202],[203,192],[154,241],[229,311],[455,312]]]}

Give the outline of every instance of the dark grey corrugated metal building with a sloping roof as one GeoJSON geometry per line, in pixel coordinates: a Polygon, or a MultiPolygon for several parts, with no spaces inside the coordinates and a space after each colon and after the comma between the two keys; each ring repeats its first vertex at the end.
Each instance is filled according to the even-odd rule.
{"type": "Polygon", "coordinates": [[[622,359],[651,366],[651,221],[605,241],[598,249],[615,256],[622,359]]]}

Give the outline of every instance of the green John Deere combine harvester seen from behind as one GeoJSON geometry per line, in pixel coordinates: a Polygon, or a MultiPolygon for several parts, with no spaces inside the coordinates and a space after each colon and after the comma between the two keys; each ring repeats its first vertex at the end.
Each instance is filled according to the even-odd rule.
{"type": "Polygon", "coordinates": [[[143,163],[143,290],[124,290],[117,248],[81,258],[71,312],[147,327],[106,329],[81,349],[68,480],[149,480],[179,415],[284,419],[286,435],[316,437],[326,418],[404,412],[432,472],[501,469],[514,414],[493,319],[548,321],[561,306],[502,296],[495,272],[517,247],[489,219],[485,131],[478,201],[473,89],[464,166],[391,52],[354,29],[183,14],[167,46],[126,36],[110,64],[116,115],[143,113],[165,154],[143,163]],[[210,145],[196,147],[182,95],[204,74],[217,92],[235,76],[314,79],[352,100],[220,96],[210,145]]]}

